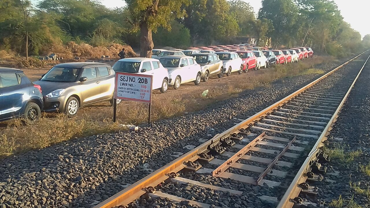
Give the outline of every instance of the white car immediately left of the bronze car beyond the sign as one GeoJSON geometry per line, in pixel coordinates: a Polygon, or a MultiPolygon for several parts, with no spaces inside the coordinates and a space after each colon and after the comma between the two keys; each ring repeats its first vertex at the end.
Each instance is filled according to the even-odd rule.
{"type": "MultiPolygon", "coordinates": [[[[197,54],[197,53],[195,53],[197,54]]],[[[194,81],[201,83],[201,66],[190,56],[165,56],[159,59],[162,66],[168,70],[168,85],[178,89],[181,84],[194,81]]]]}

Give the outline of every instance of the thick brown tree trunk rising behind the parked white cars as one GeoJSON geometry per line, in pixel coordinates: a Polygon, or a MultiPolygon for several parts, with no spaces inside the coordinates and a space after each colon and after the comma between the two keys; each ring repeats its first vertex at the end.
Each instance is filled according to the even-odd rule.
{"type": "Polygon", "coordinates": [[[152,29],[149,28],[147,22],[140,24],[140,57],[150,58],[152,56],[152,49],[154,47],[152,38],[152,29]]]}

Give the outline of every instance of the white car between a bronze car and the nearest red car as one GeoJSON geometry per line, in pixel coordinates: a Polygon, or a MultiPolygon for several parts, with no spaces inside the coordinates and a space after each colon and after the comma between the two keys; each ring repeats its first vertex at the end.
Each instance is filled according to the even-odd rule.
{"type": "Polygon", "coordinates": [[[239,55],[235,52],[222,51],[216,53],[223,63],[223,73],[226,76],[234,71],[238,71],[239,74],[243,73],[243,61],[239,55]]]}

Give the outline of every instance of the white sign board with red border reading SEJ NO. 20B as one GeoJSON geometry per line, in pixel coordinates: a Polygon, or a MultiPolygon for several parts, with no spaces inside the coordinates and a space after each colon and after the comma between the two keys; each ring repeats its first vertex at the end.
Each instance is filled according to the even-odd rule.
{"type": "Polygon", "coordinates": [[[114,98],[150,103],[153,76],[116,72],[114,98]]]}

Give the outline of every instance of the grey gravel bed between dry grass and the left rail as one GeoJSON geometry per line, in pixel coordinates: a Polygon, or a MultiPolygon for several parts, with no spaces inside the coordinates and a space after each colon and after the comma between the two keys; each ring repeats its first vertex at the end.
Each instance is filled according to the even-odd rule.
{"type": "MultiPolygon", "coordinates": [[[[343,67],[341,73],[347,74],[353,66],[343,67]]],[[[0,204],[90,208],[176,158],[171,155],[187,152],[186,145],[201,144],[200,139],[212,138],[232,127],[237,118],[259,112],[319,76],[278,80],[205,110],[143,125],[136,132],[78,138],[8,157],[0,164],[0,204]]]]}

